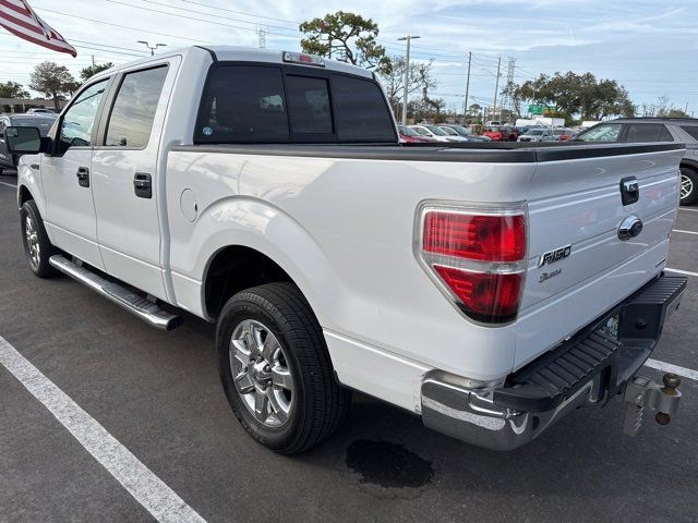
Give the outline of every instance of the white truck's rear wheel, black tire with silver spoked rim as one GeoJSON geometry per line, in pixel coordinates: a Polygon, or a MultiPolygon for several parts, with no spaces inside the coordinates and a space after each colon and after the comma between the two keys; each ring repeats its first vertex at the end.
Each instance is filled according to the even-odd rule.
{"type": "Polygon", "coordinates": [[[265,447],[303,452],[346,417],[351,394],[335,381],[320,324],[296,285],[267,283],[232,296],[216,346],[228,403],[265,447]]]}

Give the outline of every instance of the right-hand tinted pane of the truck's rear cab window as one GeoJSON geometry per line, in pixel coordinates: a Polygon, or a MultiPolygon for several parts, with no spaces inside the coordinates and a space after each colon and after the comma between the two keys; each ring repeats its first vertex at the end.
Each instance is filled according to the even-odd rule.
{"type": "Polygon", "coordinates": [[[341,142],[395,142],[393,119],[376,84],[333,77],[337,137],[341,142]]]}

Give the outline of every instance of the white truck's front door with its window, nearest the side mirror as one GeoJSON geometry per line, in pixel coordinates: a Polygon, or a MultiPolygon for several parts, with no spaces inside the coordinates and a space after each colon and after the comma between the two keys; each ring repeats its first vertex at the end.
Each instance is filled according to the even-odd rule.
{"type": "Polygon", "coordinates": [[[53,150],[41,155],[41,183],[46,195],[44,222],[52,243],[104,269],[97,246],[93,203],[92,155],[97,120],[109,80],[85,87],[61,115],[53,150]]]}

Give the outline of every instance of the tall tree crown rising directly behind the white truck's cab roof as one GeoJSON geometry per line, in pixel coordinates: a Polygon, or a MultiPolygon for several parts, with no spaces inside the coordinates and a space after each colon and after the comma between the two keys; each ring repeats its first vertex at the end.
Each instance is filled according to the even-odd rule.
{"type": "Polygon", "coordinates": [[[389,68],[385,48],[376,42],[378,25],[359,14],[337,11],[323,19],[303,22],[299,29],[303,52],[335,58],[384,72],[389,68]]]}

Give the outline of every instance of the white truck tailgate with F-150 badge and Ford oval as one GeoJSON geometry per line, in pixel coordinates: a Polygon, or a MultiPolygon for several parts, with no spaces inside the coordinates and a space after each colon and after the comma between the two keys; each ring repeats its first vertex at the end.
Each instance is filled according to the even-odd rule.
{"type": "Polygon", "coordinates": [[[576,332],[657,276],[666,263],[683,149],[542,161],[529,186],[529,260],[515,368],[576,332]],[[635,177],[639,199],[622,202],[635,177]],[[641,232],[619,224],[635,216],[641,232]],[[547,253],[547,255],[546,255],[547,253]]]}

